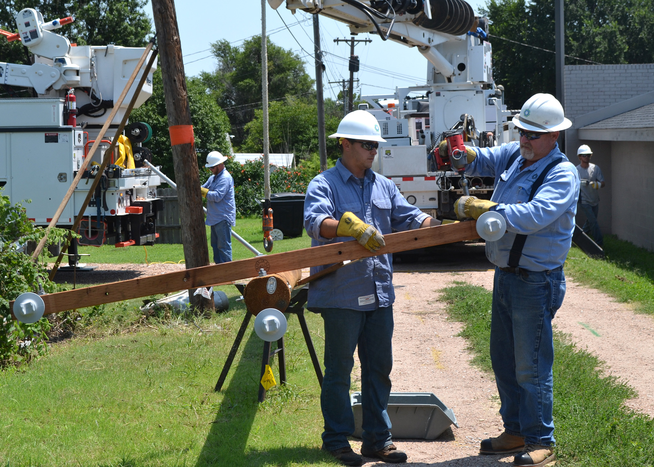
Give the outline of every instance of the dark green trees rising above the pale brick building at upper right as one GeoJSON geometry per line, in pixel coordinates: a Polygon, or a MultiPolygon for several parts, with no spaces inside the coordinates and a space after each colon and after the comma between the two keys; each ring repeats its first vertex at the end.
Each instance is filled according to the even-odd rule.
{"type": "MultiPolygon", "coordinates": [[[[555,94],[553,0],[489,0],[493,75],[506,88],[506,103],[519,109],[537,92],[555,94]],[[492,37],[495,36],[495,37],[492,37]],[[521,44],[504,41],[510,39],[521,44]]],[[[566,0],[565,50],[598,63],[654,61],[654,0],[566,0]]],[[[566,65],[590,64],[566,58],[566,65]]]]}

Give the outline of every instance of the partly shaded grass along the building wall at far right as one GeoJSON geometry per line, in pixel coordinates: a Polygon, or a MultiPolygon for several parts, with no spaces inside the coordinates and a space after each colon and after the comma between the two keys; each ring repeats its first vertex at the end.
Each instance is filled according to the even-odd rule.
{"type": "Polygon", "coordinates": [[[634,303],[635,311],[654,314],[654,252],[604,237],[606,260],[589,258],[572,247],[565,271],[572,279],[598,288],[623,303],[634,303]]]}

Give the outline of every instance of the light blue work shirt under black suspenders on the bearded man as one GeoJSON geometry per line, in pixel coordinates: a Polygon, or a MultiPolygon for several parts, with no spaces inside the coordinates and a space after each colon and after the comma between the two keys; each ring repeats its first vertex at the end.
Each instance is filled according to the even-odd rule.
{"type": "Polygon", "coordinates": [[[547,271],[563,266],[574,232],[574,216],[579,198],[579,174],[560,152],[559,145],[547,156],[522,171],[525,159],[519,156],[505,172],[517,142],[490,148],[475,148],[477,158],[466,167],[466,175],[495,177],[490,198],[498,203],[492,210],[506,220],[507,233],[497,241],[486,242],[486,256],[500,268],[508,267],[509,251],[516,234],[526,234],[519,267],[528,271],[547,271]],[[545,177],[532,201],[532,184],[550,162],[563,158],[545,177]]]}

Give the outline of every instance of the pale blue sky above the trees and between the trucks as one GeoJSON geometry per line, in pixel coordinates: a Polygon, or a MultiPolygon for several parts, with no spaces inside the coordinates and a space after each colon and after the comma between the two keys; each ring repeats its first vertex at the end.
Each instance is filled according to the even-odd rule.
{"type": "MultiPolygon", "coordinates": [[[[476,13],[479,7],[485,5],[485,0],[468,3],[476,13]]],[[[145,10],[152,18],[152,5],[149,1],[145,10]]],[[[186,74],[198,75],[201,71],[215,68],[216,62],[207,50],[211,43],[226,39],[233,45],[238,45],[243,43],[243,39],[261,33],[261,3],[260,0],[178,0],[177,24],[186,74]]],[[[293,15],[290,10],[286,10],[285,2],[277,10],[267,6],[266,26],[271,41],[297,52],[305,60],[307,73],[315,78],[312,15],[300,10],[293,15]],[[307,53],[311,56],[307,56],[307,53]]],[[[325,97],[335,98],[339,85],[327,84],[327,81],[349,78],[349,46],[336,44],[334,39],[349,38],[349,29],[343,23],[320,16],[320,33],[322,49],[328,52],[324,58],[327,67],[326,75],[323,75],[325,97]]],[[[361,34],[357,39],[364,39],[364,36],[370,37],[373,42],[358,44],[354,50],[361,61],[358,78],[364,95],[387,94],[393,92],[396,86],[424,83],[427,61],[415,48],[407,48],[392,41],[383,42],[377,35],[361,34]]]]}

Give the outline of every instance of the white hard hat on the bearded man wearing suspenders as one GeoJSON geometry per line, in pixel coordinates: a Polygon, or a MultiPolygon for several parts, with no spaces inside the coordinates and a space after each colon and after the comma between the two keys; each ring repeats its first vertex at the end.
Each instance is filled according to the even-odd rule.
{"type": "Polygon", "coordinates": [[[532,95],[512,121],[523,130],[549,133],[566,130],[572,126],[572,122],[563,114],[561,103],[551,94],[532,95]]]}

